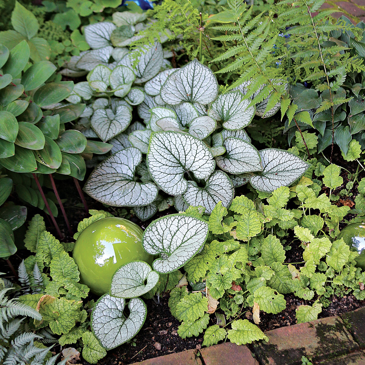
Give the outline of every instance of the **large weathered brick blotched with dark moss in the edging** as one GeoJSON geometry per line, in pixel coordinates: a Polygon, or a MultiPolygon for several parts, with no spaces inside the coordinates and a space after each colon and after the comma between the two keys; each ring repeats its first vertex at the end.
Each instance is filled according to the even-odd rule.
{"type": "Polygon", "coordinates": [[[265,334],[269,342],[254,344],[257,358],[265,365],[301,364],[303,355],[324,360],[359,347],[339,317],[281,327],[265,334]]]}

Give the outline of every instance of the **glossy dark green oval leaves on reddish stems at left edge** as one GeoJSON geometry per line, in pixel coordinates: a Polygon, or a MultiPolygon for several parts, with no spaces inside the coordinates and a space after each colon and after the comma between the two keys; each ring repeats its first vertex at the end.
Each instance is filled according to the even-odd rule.
{"type": "Polygon", "coordinates": [[[59,104],[73,91],[73,81],[57,81],[49,61],[30,61],[23,40],[8,49],[0,45],[0,164],[17,173],[53,173],[80,180],[81,153],[105,153],[100,142],[87,142],[80,131],[66,130],[83,104],[59,104]]]}

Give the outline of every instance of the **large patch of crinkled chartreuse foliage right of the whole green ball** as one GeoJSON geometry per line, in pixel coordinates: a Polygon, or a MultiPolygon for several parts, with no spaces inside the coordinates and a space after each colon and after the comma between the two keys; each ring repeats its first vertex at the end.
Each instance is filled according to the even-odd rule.
{"type": "Polygon", "coordinates": [[[322,181],[304,176],[291,188],[259,193],[255,202],[235,197],[228,209],[219,202],[210,216],[189,207],[185,214],[206,219],[211,235],[203,250],[184,265],[193,291],[200,292],[177,286],[170,293],[171,312],[182,321],[181,337],[205,330],[206,346],[226,337],[237,344],[263,339],[257,326],[240,317],[248,308],[254,322],[260,323],[262,311],[285,310],[287,293],[307,301],[296,311],[298,322],[316,319],[332,295],[365,298],[365,273],[354,261],[358,253],[336,239],[349,207],[331,204],[326,194],[320,194],[322,184],[330,189],[341,186],[338,166],[327,166],[323,175],[322,181]],[[290,230],[295,235],[291,242],[286,238],[290,230]],[[289,245],[303,247],[303,262],[285,263],[289,245]],[[196,289],[199,283],[202,288],[196,289]],[[222,321],[208,326],[209,314],[217,308],[233,320],[231,329],[222,321]]]}

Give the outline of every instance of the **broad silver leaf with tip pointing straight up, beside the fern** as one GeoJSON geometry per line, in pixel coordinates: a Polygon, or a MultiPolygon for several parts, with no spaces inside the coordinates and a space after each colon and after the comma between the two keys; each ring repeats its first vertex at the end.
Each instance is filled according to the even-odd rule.
{"type": "Polygon", "coordinates": [[[213,72],[194,59],[170,74],[161,88],[161,97],[171,105],[183,101],[208,104],[218,95],[218,82],[213,72]]]}

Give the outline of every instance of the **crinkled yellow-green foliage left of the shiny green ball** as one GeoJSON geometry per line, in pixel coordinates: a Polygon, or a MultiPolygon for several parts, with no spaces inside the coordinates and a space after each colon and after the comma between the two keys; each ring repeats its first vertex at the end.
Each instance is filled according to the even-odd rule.
{"type": "MultiPolygon", "coordinates": [[[[106,213],[91,211],[104,218],[106,213]]],[[[82,222],[81,222],[82,224],[82,222]]],[[[24,244],[33,254],[19,266],[20,303],[26,304],[42,316],[30,322],[36,334],[48,331],[61,346],[76,344],[82,339],[82,356],[91,363],[104,357],[106,351],[88,330],[87,310],[93,302],[82,303],[89,288],[81,284],[80,272],[68,251],[73,243],[59,242],[46,231],[40,215],[35,215],[28,227],[24,244]]]]}

